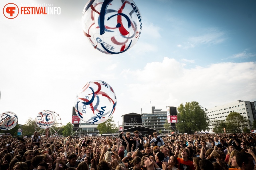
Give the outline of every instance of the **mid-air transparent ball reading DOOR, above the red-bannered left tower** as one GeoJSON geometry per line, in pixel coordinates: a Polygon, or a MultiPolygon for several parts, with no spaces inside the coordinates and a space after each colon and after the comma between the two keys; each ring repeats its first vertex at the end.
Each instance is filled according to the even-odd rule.
{"type": "Polygon", "coordinates": [[[75,101],[77,116],[86,123],[100,124],[114,113],[116,96],[104,81],[90,81],[79,91],[75,101]]]}

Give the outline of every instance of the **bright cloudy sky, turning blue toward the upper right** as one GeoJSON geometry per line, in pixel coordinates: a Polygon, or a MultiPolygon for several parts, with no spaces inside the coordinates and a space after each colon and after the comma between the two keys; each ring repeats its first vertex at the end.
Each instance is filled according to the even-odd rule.
{"type": "Polygon", "coordinates": [[[87,1],[52,3],[61,15],[0,15],[0,112],[23,124],[41,110],[71,121],[76,93],[103,80],[114,89],[121,115],[198,101],[211,108],[256,101],[256,1],[136,0],[143,21],[137,44],[125,53],[93,49],[82,32],[87,1]],[[68,116],[70,115],[70,116],[68,116]]]}

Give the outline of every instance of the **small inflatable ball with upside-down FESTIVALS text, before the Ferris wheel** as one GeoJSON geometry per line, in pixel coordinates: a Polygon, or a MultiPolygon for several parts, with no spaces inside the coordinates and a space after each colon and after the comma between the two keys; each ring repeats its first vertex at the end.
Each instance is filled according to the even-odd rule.
{"type": "Polygon", "coordinates": [[[50,110],[43,110],[37,114],[35,122],[40,128],[52,127],[55,123],[55,113],[50,110]]]}

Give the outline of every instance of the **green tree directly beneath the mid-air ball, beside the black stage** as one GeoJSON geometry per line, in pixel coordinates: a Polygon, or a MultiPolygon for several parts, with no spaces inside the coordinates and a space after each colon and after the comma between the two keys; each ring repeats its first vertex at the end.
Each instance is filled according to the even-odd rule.
{"type": "Polygon", "coordinates": [[[108,119],[104,123],[98,124],[97,129],[99,130],[101,135],[103,133],[116,133],[118,131],[118,128],[114,124],[113,117],[110,117],[110,119],[108,119]]]}

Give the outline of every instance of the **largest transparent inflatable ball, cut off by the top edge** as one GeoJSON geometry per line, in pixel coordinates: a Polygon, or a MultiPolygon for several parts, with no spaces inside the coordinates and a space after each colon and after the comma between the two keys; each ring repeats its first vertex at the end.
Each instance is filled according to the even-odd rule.
{"type": "Polygon", "coordinates": [[[138,41],[141,13],[132,0],[89,0],[82,13],[82,27],[95,49],[119,54],[138,41]]]}

